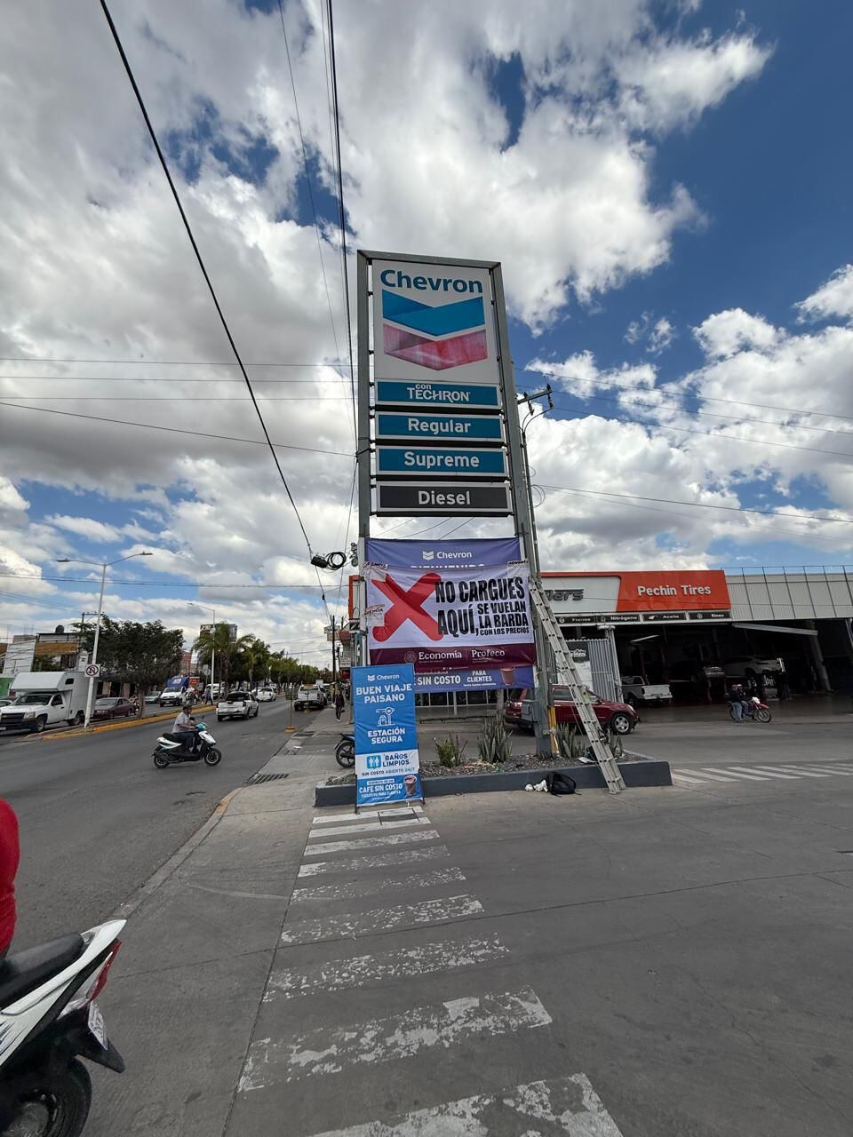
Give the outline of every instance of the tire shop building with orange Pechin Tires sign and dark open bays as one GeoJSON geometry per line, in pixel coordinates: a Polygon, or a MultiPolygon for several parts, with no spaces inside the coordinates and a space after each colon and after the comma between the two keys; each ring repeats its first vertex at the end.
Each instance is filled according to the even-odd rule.
{"type": "Polygon", "coordinates": [[[676,703],[753,678],[769,698],[853,694],[853,568],[545,572],[543,586],[568,640],[610,640],[622,675],[669,683],[676,703]]]}

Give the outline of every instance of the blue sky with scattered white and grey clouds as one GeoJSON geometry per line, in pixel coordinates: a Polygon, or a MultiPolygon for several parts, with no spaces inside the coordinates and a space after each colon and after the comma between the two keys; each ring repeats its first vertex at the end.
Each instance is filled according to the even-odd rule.
{"type": "MultiPolygon", "coordinates": [[[[110,8],[312,548],[347,548],[325,8],[110,8]]],[[[555,389],[528,435],[543,567],[853,563],[853,8],[333,19],[350,285],[356,248],[502,263],[517,387],[555,389]]],[[[323,600],[99,7],[32,0],[5,33],[0,639],[96,609],[98,566],[144,550],[108,570],[114,619],[189,641],[215,611],[322,663],[346,582],[323,600]]],[[[507,523],[458,525],[374,531],[507,523]]]]}

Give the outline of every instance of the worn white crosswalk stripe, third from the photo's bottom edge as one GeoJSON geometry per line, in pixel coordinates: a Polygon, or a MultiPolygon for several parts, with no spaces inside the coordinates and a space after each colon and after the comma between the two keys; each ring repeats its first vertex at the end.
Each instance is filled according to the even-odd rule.
{"type": "Polygon", "coordinates": [[[397,947],[375,955],[356,955],[345,960],[315,963],[303,970],[284,968],[270,976],[264,1002],[283,996],[321,995],[366,984],[384,984],[411,976],[426,976],[437,971],[473,968],[507,956],[497,936],[486,939],[450,939],[426,944],[423,947],[397,947]]]}

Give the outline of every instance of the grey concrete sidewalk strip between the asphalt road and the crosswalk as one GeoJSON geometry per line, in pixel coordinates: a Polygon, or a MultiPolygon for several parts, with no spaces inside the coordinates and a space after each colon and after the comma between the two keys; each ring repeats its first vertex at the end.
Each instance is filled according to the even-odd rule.
{"type": "Polygon", "coordinates": [[[101,999],[127,1072],[92,1069],[88,1137],[224,1131],[314,814],[314,786],[334,765],[333,736],[301,753],[309,740],[307,732],[289,737],[259,771],[284,777],[241,787],[130,898],[135,911],[101,999]]]}

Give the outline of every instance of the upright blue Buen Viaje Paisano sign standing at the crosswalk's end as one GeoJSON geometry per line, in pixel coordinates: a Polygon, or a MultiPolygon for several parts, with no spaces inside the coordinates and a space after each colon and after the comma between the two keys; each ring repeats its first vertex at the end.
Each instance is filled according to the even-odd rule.
{"type": "Polygon", "coordinates": [[[356,808],[423,800],[415,669],[411,663],[353,667],[356,742],[356,808]]]}

